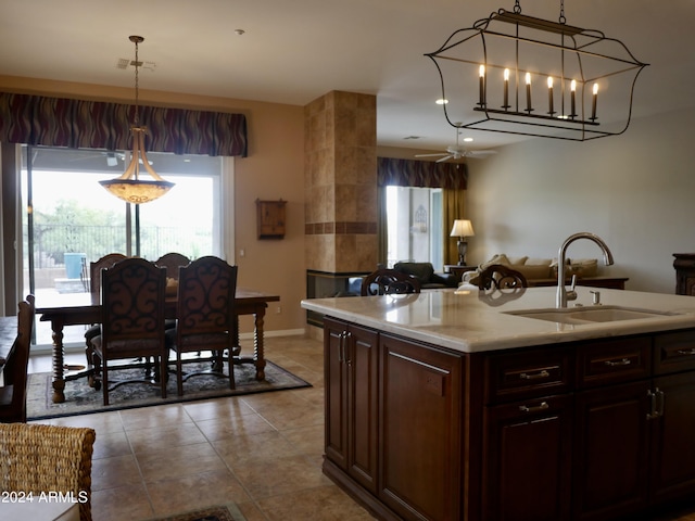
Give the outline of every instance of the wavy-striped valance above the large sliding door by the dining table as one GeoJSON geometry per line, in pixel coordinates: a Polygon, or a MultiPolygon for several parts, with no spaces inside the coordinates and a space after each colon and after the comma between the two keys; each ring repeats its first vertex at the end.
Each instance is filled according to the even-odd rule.
{"type": "MultiPolygon", "coordinates": [[[[71,149],[128,150],[135,106],[0,92],[0,141],[71,149]]],[[[154,152],[247,156],[243,114],[140,106],[154,152]]]]}

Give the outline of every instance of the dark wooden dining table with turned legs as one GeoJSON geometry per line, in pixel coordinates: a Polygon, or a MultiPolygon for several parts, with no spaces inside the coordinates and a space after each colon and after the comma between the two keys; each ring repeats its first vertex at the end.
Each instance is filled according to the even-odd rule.
{"type": "MultiPolygon", "coordinates": [[[[235,300],[235,314],[237,320],[241,315],[253,315],[254,333],[253,333],[253,354],[251,356],[242,356],[242,350],[239,342],[239,328],[237,327],[236,350],[239,355],[230,354],[230,363],[233,364],[253,364],[256,369],[256,380],[265,380],[265,358],[263,354],[264,344],[264,317],[265,310],[269,302],[277,302],[279,295],[264,293],[261,291],[250,290],[245,288],[237,288],[235,300]]],[[[169,295],[165,298],[164,314],[166,318],[176,318],[176,296],[169,295]]],[[[101,305],[66,305],[37,307],[36,315],[40,315],[41,321],[51,322],[51,331],[53,339],[52,353],[52,372],[53,372],[53,403],[59,404],[65,402],[65,382],[77,378],[88,377],[92,373],[92,368],[79,368],[77,370],[67,370],[65,366],[65,348],[63,346],[63,328],[65,326],[79,326],[99,323],[101,321],[101,305]]],[[[14,328],[16,334],[16,317],[14,317],[14,328]]],[[[0,352],[0,356],[2,353],[0,352]]]]}

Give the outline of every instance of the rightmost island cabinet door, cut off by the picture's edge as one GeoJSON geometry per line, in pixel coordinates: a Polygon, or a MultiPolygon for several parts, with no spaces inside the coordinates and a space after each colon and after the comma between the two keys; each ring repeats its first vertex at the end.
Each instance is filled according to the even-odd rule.
{"type": "Polygon", "coordinates": [[[695,373],[654,381],[660,415],[652,422],[654,503],[695,494],[695,373]]]}

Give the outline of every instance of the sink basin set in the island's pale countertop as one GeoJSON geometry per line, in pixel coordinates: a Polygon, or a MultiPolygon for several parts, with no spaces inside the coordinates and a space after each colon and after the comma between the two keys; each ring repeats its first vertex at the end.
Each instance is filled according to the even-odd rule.
{"type": "Polygon", "coordinates": [[[551,322],[573,323],[578,326],[597,322],[615,322],[618,320],[662,318],[677,315],[668,312],[621,306],[587,306],[560,309],[548,307],[543,309],[520,309],[517,312],[506,313],[518,317],[535,318],[538,320],[547,320],[551,322]]]}

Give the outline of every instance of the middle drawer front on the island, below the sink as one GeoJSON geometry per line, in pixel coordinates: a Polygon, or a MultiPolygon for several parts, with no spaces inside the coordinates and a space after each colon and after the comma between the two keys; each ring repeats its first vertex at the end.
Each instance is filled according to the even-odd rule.
{"type": "Polygon", "coordinates": [[[582,345],[577,353],[578,384],[580,387],[594,387],[649,378],[650,355],[649,338],[609,340],[582,345]]]}

